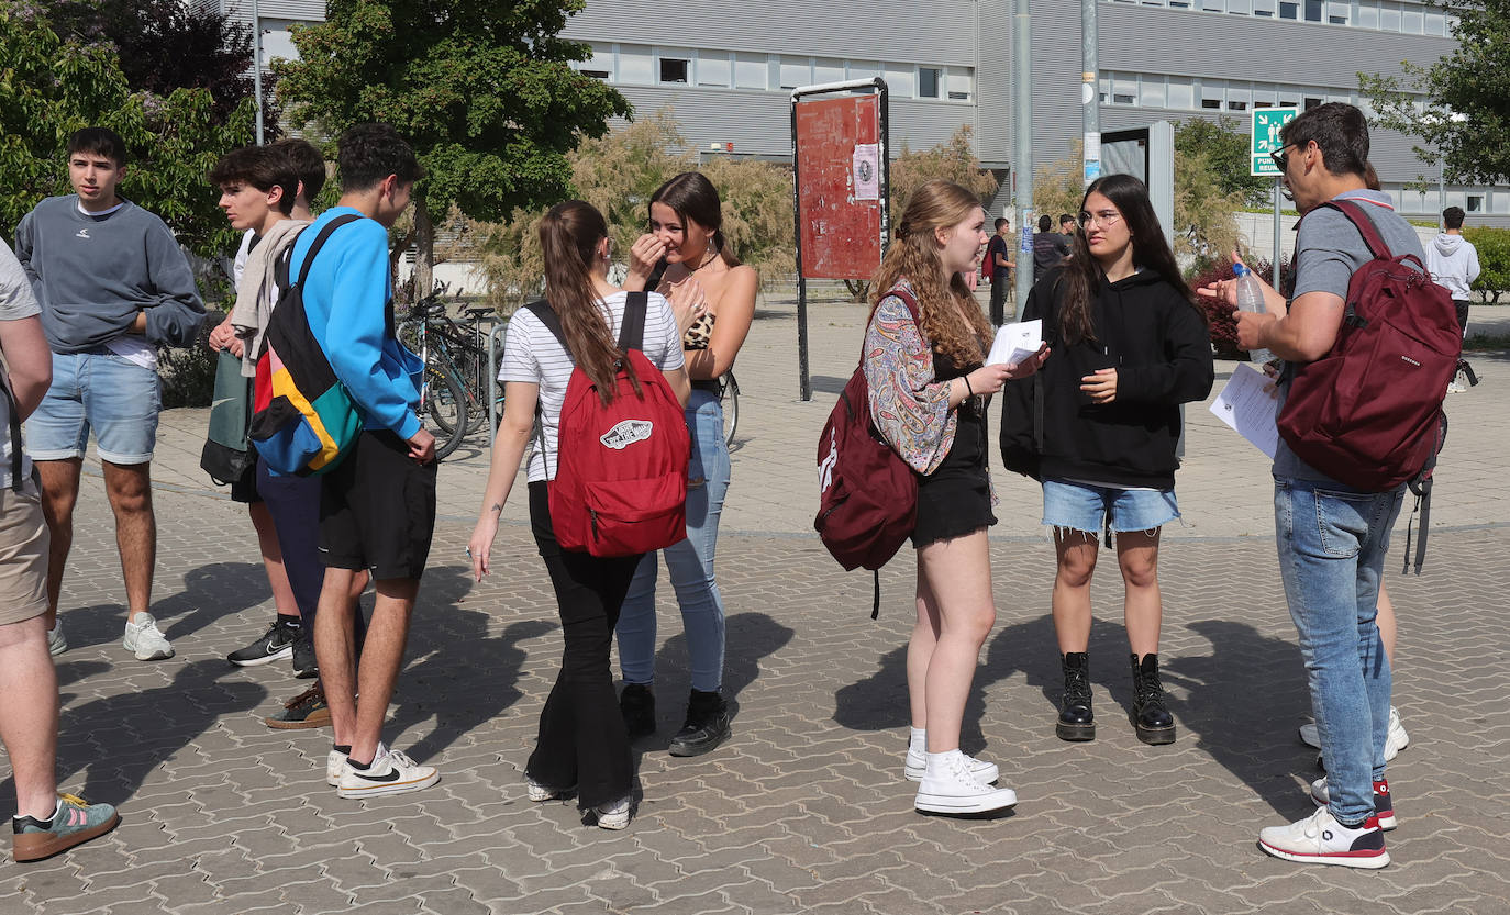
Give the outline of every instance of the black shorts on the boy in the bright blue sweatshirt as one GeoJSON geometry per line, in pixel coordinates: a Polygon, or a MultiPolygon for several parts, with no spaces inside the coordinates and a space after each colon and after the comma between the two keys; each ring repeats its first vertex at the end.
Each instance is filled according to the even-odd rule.
{"type": "Polygon", "coordinates": [[[320,559],[384,578],[424,574],[435,533],[436,462],[415,464],[393,432],[362,432],[320,485],[320,559]]]}

